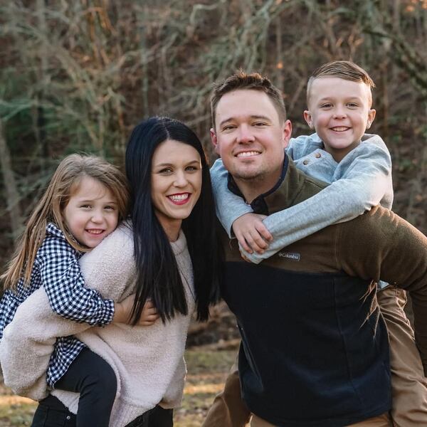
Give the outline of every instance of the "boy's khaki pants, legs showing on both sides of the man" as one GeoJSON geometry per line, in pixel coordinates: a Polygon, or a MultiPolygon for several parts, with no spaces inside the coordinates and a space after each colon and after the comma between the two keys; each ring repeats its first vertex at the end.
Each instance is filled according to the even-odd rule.
{"type": "MultiPolygon", "coordinates": [[[[377,298],[389,330],[393,425],[427,426],[427,381],[413,338],[413,330],[403,310],[406,294],[389,286],[381,290],[377,298]]],[[[202,427],[245,427],[250,416],[251,413],[241,399],[235,364],[226,380],[224,391],[216,396],[202,427]]]]}

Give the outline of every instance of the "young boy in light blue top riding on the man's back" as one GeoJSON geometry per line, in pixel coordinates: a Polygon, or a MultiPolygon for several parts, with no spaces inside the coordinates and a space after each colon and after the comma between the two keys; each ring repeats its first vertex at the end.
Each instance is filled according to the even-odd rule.
{"type": "MultiPolygon", "coordinates": [[[[233,229],[245,258],[259,263],[284,246],[332,223],[348,221],[376,204],[391,208],[389,151],[380,137],[364,135],[375,117],[373,87],[366,71],[349,61],[322,65],[310,77],[304,117],[317,133],[291,139],[287,152],[306,174],[332,184],[300,204],[267,217],[250,214],[251,207],[228,191],[221,160],[214,164],[211,176],[218,218],[228,233],[233,229]]],[[[406,295],[384,283],[379,288],[384,288],[378,300],[391,344],[391,415],[396,426],[421,426],[427,424],[427,381],[403,311],[406,295]]],[[[249,413],[239,403],[237,381],[234,372],[224,393],[217,396],[205,427],[245,425],[249,413]]]]}

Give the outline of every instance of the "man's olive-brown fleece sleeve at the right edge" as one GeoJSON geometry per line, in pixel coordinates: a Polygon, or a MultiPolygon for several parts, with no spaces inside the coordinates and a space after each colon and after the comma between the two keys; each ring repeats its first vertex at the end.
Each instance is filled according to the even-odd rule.
{"type": "Polygon", "coordinates": [[[410,293],[416,344],[427,374],[427,237],[381,207],[339,228],[338,268],[365,280],[384,280],[410,293]]]}

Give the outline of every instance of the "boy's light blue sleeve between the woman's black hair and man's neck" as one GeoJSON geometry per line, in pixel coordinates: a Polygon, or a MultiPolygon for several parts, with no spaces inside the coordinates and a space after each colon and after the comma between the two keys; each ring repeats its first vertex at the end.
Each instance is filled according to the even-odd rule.
{"type": "Polygon", "coordinates": [[[245,201],[228,190],[227,186],[228,172],[221,159],[216,160],[211,167],[212,189],[216,201],[216,216],[218,216],[223,228],[228,236],[232,238],[233,222],[239,216],[252,212],[251,206],[245,201]]]}

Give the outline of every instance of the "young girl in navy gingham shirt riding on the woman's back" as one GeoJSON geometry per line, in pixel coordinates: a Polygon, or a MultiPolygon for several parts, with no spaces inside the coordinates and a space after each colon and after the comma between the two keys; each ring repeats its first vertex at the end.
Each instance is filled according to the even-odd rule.
{"type": "MultiPolygon", "coordinates": [[[[100,157],[71,154],[60,162],[2,276],[0,338],[21,302],[41,286],[53,312],[66,319],[100,327],[127,320],[132,299],[117,303],[85,288],[78,263],[115,230],[127,200],[125,176],[100,157]]],[[[79,426],[92,425],[93,416],[108,425],[115,374],[83,342],[71,336],[56,339],[46,376],[51,388],[80,391],[79,426]]]]}

